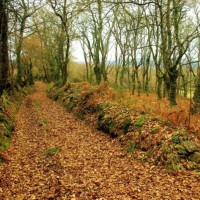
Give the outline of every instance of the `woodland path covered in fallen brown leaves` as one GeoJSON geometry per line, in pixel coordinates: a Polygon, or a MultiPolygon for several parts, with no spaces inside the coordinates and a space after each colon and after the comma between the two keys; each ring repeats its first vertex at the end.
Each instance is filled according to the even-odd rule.
{"type": "Polygon", "coordinates": [[[200,177],[142,164],[109,136],[48,99],[45,85],[17,117],[10,161],[0,165],[0,200],[200,199],[200,177]],[[47,156],[50,148],[61,151],[47,156]]]}

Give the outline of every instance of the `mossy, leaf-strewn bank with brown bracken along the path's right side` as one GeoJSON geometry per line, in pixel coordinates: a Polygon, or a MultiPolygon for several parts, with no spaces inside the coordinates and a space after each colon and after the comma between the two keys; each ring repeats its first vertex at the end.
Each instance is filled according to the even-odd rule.
{"type": "Polygon", "coordinates": [[[188,160],[197,162],[196,168],[199,167],[199,148],[190,151],[189,147],[195,147],[195,142],[198,144],[197,137],[188,134],[187,127],[181,126],[184,112],[179,108],[169,108],[166,103],[162,104],[155,98],[150,100],[147,96],[144,98],[144,95],[137,98],[117,92],[106,83],[100,86],[74,83],[62,88],[51,87],[48,95],[61,102],[68,112],[118,138],[128,153],[137,154],[136,150],[144,152],[142,156],[138,155],[142,162],[165,165],[169,171],[187,168],[188,160]],[[159,116],[156,114],[158,109],[161,109],[159,116]],[[161,117],[165,111],[165,116],[172,116],[169,114],[172,110],[177,113],[176,123],[173,123],[173,118],[167,120],[161,117]]]}

